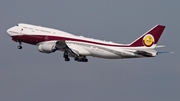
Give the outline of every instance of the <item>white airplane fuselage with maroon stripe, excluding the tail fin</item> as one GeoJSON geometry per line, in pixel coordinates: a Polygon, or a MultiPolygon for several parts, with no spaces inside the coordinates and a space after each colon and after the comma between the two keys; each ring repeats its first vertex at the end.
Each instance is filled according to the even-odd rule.
{"type": "MultiPolygon", "coordinates": [[[[76,36],[52,28],[22,23],[8,29],[7,32],[14,41],[38,46],[43,43],[50,44],[56,43],[57,41],[64,41],[66,45],[77,55],[108,59],[145,57],[136,54],[135,52],[137,50],[147,50],[155,47],[155,44],[152,47],[132,47],[129,44],[118,44],[83,36],[76,36]]],[[[61,47],[61,45],[59,45],[59,47],[61,47]]],[[[61,48],[58,50],[64,51],[64,49],[61,48]]],[[[153,53],[153,56],[155,55],[156,54],[153,53]]]]}

